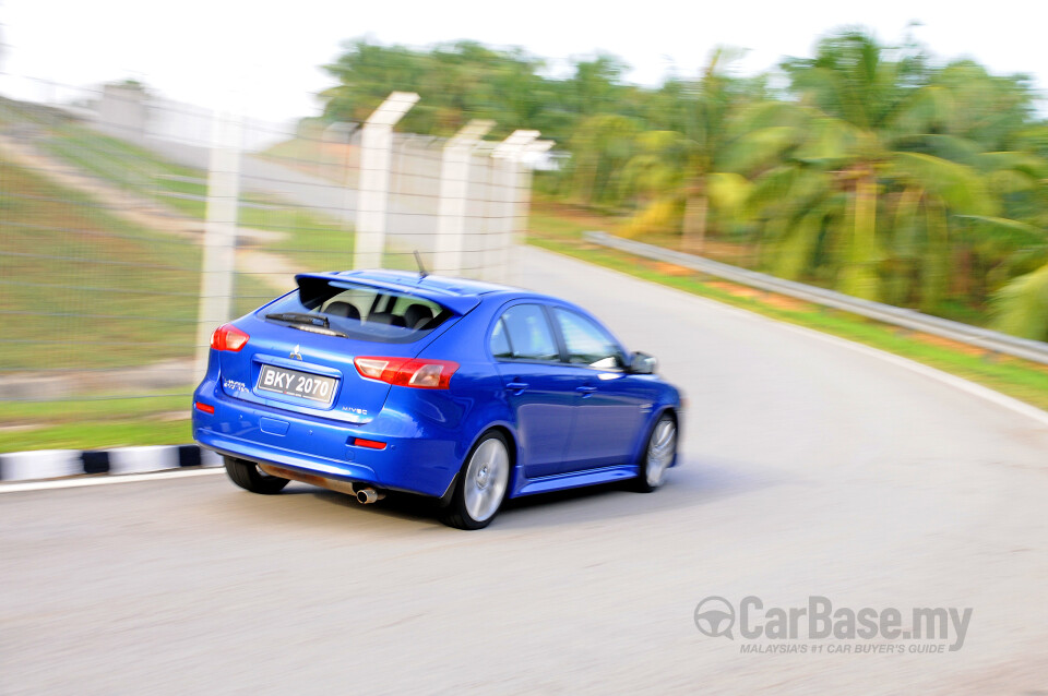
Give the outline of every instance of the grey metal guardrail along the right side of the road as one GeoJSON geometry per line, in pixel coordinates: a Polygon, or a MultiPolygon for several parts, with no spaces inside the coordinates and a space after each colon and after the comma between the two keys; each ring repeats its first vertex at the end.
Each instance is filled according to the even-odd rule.
{"type": "Polygon", "coordinates": [[[950,340],[981,348],[988,352],[1014,356],[1016,358],[1023,358],[1024,360],[1039,362],[1040,364],[1048,364],[1048,344],[1039,340],[1017,338],[988,328],[979,328],[978,326],[970,326],[939,316],[921,314],[920,312],[901,307],[871,302],[870,300],[862,300],[833,290],[826,290],[825,288],[817,288],[802,283],[795,283],[794,280],[784,280],[783,278],[776,278],[775,276],[770,276],[764,273],[739,268],[738,266],[731,266],[718,261],[711,261],[702,256],[686,254],[663,247],[654,247],[631,239],[622,239],[621,237],[614,237],[607,232],[584,232],[583,238],[588,242],[600,244],[602,247],[609,247],[645,259],[683,266],[684,268],[691,268],[699,273],[731,280],[733,283],[746,285],[751,288],[777,292],[778,295],[805,300],[813,304],[851,312],[853,314],[873,319],[885,324],[892,324],[933,336],[941,336],[942,338],[949,338],[950,340]]]}

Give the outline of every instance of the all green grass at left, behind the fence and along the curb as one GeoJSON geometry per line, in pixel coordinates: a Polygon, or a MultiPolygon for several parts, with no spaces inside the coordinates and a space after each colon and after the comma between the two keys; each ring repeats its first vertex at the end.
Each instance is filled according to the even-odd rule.
{"type": "MultiPolygon", "coordinates": [[[[203,171],[96,133],[61,111],[0,98],[0,123],[132,199],[191,219],[205,215],[203,171]]],[[[261,250],[303,271],[350,266],[353,235],[340,223],[278,196],[241,192],[241,227],[276,232],[261,242],[251,238],[261,250]]],[[[84,370],[104,375],[107,369],[193,356],[198,240],[129,223],[91,194],[3,159],[0,227],[0,379],[84,370]]],[[[276,293],[251,273],[237,274],[235,292],[235,315],[276,293]]],[[[155,391],[5,398],[0,452],[189,442],[191,387],[176,396],[155,391]]]]}

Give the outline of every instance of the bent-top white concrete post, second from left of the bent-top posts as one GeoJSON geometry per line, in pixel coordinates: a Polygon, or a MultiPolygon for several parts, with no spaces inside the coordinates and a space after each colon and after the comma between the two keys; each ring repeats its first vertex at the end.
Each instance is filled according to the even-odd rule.
{"type": "Polygon", "coordinates": [[[495,121],[475,119],[466,123],[444,145],[440,165],[434,273],[462,274],[466,200],[469,195],[469,165],[473,159],[473,149],[493,127],[495,121]]]}

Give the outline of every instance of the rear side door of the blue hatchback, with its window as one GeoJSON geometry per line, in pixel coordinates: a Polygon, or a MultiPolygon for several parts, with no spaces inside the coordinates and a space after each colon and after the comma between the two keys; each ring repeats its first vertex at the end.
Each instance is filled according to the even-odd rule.
{"type": "Polygon", "coordinates": [[[579,374],[561,362],[546,310],[529,302],[509,305],[489,346],[516,419],[524,475],[559,473],[575,418],[579,374]]]}

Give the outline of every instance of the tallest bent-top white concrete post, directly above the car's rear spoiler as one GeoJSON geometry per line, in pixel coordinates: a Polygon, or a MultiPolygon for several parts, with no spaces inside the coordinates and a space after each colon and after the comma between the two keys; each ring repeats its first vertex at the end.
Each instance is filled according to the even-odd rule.
{"type": "Polygon", "coordinates": [[[354,268],[379,268],[385,249],[390,194],[390,151],[393,127],[418,101],[418,95],[394,92],[374,110],[360,131],[360,180],[354,268]]]}

